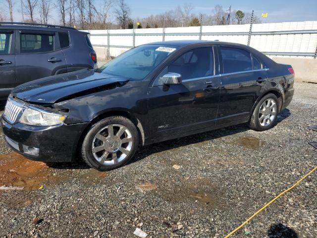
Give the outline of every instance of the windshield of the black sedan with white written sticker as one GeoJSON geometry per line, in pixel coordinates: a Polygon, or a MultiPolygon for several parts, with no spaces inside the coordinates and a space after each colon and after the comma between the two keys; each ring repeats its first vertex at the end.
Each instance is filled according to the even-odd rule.
{"type": "Polygon", "coordinates": [[[109,61],[96,69],[96,72],[139,81],[144,79],[177,48],[176,46],[159,45],[139,46],[109,61]]]}

